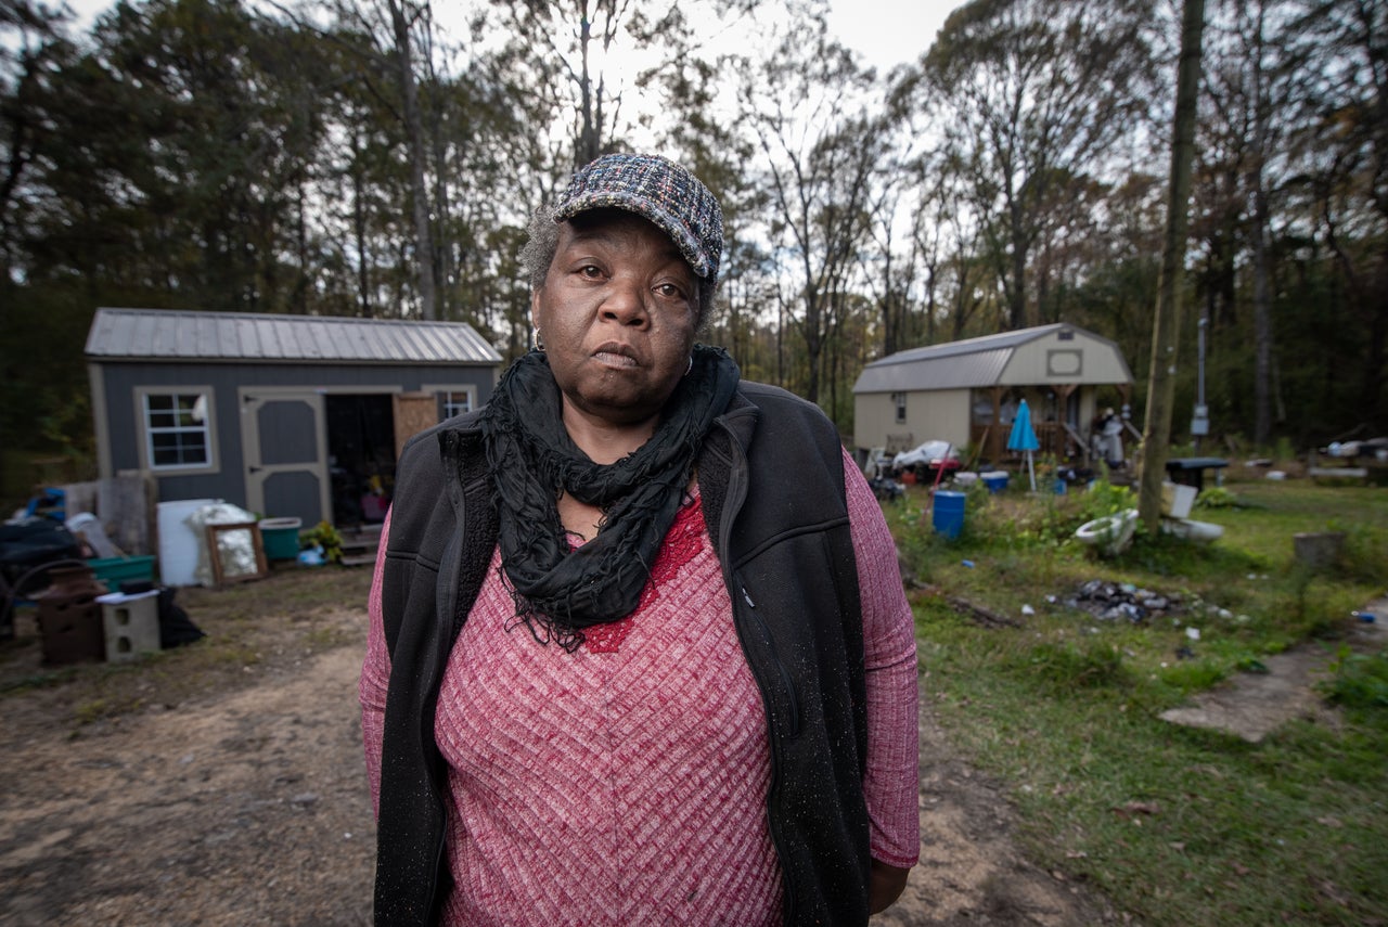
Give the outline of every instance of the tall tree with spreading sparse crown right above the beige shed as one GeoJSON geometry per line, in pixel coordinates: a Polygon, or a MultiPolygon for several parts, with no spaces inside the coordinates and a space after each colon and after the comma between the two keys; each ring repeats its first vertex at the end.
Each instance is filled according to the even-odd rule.
{"type": "Polygon", "coordinates": [[[1152,19],[1149,0],[974,0],[923,61],[920,105],[970,171],[1009,328],[1038,318],[1031,258],[1056,183],[1102,172],[1137,129],[1152,19]]]}

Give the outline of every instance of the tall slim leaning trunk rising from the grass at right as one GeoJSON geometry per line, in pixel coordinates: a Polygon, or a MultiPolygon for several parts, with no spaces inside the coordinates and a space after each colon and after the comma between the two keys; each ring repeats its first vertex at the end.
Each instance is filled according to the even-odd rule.
{"type": "Polygon", "coordinates": [[[1191,162],[1195,157],[1195,111],[1201,83],[1201,39],[1205,0],[1185,0],[1181,15],[1181,64],[1176,79],[1176,119],[1171,132],[1171,187],[1166,204],[1166,241],[1162,282],[1152,321],[1152,369],[1148,373],[1146,425],[1142,434],[1142,473],[1138,512],[1148,530],[1162,520],[1162,476],[1171,437],[1176,394],[1176,344],[1181,322],[1181,284],[1185,236],[1190,226],[1191,162]]]}

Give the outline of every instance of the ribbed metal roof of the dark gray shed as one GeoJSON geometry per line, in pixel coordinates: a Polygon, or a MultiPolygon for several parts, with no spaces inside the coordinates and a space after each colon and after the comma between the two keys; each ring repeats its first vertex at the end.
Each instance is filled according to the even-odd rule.
{"type": "Polygon", "coordinates": [[[107,361],[501,364],[465,322],[99,308],[86,355],[107,361]]]}

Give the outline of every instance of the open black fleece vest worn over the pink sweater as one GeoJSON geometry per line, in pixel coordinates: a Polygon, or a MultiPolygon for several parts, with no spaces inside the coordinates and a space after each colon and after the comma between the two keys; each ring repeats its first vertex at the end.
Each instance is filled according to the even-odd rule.
{"type": "MultiPolygon", "coordinates": [[[[450,887],[434,708],[497,538],[476,416],[412,439],[396,475],[378,924],[434,923],[450,887]]],[[[862,612],[841,454],[818,407],[743,383],[698,459],[704,518],[766,711],[766,808],[790,926],[867,923],[862,612]]]]}

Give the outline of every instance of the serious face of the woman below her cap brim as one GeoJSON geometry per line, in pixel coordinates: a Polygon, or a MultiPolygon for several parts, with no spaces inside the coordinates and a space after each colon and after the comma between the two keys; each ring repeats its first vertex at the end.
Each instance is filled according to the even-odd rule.
{"type": "Polygon", "coordinates": [[[615,426],[658,418],[688,369],[697,283],[669,236],[633,212],[562,222],[530,311],[568,411],[615,426]]]}

